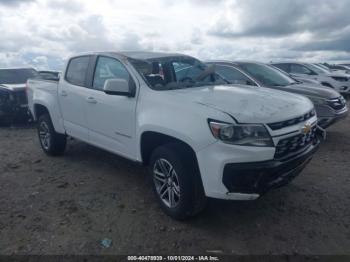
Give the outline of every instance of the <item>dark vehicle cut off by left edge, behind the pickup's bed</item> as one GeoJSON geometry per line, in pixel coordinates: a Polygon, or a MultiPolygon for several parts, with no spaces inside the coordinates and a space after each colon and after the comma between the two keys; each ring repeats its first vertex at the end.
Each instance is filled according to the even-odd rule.
{"type": "Polygon", "coordinates": [[[26,83],[37,76],[33,68],[0,69],[0,124],[30,118],[26,83]]]}

